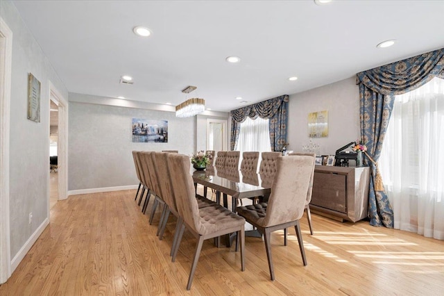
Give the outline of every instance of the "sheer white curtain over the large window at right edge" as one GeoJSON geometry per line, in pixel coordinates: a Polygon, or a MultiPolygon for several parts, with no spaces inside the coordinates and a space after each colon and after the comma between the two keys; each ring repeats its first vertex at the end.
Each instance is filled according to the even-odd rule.
{"type": "Polygon", "coordinates": [[[444,240],[444,79],[395,97],[379,169],[395,229],[444,240]]]}

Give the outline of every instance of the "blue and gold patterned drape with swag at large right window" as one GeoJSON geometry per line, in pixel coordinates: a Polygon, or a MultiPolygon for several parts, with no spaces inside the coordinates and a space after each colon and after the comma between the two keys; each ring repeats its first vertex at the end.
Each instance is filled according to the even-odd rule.
{"type": "Polygon", "coordinates": [[[393,211],[384,188],[375,188],[375,181],[380,178],[377,161],[393,109],[393,96],[419,88],[434,76],[444,78],[444,49],[357,74],[361,140],[368,147],[368,156],[375,161],[373,163],[365,156],[372,172],[368,215],[373,226],[393,228],[393,211]]]}

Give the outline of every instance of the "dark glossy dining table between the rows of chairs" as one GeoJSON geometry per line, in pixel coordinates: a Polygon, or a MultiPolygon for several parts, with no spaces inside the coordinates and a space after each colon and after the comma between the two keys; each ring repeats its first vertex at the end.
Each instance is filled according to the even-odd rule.
{"type": "MultiPolygon", "coordinates": [[[[195,186],[200,184],[216,192],[216,203],[220,204],[221,195],[223,195],[223,206],[230,208],[233,213],[236,213],[238,200],[268,197],[273,183],[271,176],[216,166],[208,166],[205,170],[194,170],[191,174],[195,186]],[[228,196],[232,197],[231,206],[228,206],[228,196]]],[[[246,236],[262,235],[253,230],[246,231],[246,236]]],[[[235,238],[235,233],[227,240],[227,247],[230,247],[233,238],[235,238]]]]}

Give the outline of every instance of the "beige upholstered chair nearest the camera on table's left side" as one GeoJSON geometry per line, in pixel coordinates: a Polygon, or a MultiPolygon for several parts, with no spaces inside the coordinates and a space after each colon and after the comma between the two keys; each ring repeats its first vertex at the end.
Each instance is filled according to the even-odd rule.
{"type": "Polygon", "coordinates": [[[203,241],[209,238],[237,232],[237,236],[240,238],[241,270],[244,271],[245,219],[219,205],[207,206],[206,208],[199,209],[198,202],[194,195],[193,178],[189,174],[189,157],[179,154],[169,154],[167,156],[167,161],[171,183],[173,183],[173,192],[174,197],[176,198],[178,213],[184,222],[178,233],[176,246],[173,252],[173,261],[176,259],[180,247],[180,240],[182,239],[182,234],[185,231],[185,228],[198,239],[196,252],[189,272],[187,290],[191,288],[203,241]]]}

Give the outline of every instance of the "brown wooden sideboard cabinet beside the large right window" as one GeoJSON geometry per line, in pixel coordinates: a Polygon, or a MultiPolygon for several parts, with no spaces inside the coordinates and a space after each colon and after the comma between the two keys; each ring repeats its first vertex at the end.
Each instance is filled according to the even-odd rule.
{"type": "Polygon", "coordinates": [[[369,167],[316,165],[310,209],[336,220],[367,217],[369,167]]]}

